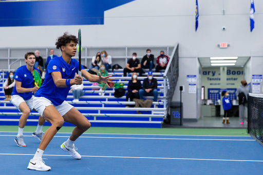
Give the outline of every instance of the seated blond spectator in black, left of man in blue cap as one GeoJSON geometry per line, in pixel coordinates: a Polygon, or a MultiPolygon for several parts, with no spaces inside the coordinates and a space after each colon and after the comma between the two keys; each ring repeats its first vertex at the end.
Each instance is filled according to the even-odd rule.
{"type": "MultiPolygon", "coordinates": [[[[142,83],[140,80],[137,79],[137,73],[133,72],[132,80],[130,80],[128,83],[126,102],[128,102],[129,99],[130,101],[133,101],[133,99],[140,99],[139,90],[141,88],[142,88],[142,83]]],[[[126,105],[126,107],[129,107],[129,105],[126,105]]],[[[132,107],[134,107],[134,105],[132,107]]]]}

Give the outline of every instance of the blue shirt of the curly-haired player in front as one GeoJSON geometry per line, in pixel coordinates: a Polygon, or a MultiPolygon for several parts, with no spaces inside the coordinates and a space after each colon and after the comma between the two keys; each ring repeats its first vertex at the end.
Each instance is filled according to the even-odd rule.
{"type": "MultiPolygon", "coordinates": [[[[81,69],[84,69],[81,65],[81,69]]],[[[37,89],[35,96],[50,100],[53,105],[61,105],[66,99],[70,87],[57,87],[55,86],[54,80],[52,78],[52,72],[61,72],[62,79],[74,79],[74,76],[79,71],[79,62],[75,59],[71,59],[71,64],[67,64],[62,56],[55,57],[52,59],[48,66],[46,77],[43,85],[37,89]]]]}

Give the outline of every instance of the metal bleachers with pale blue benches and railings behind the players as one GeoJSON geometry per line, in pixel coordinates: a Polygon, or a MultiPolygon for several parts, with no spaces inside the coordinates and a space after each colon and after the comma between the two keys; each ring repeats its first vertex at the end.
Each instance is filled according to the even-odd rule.
{"type": "MultiPolygon", "coordinates": [[[[167,55],[170,56],[170,61],[168,63],[168,66],[165,70],[165,72],[160,72],[160,73],[154,73],[154,75],[159,75],[155,76],[155,78],[158,80],[158,84],[161,84],[160,86],[158,85],[158,88],[160,89],[158,93],[162,93],[163,96],[158,96],[158,100],[161,100],[159,102],[154,102],[154,108],[123,108],[123,107],[110,107],[110,108],[105,108],[104,105],[109,105],[109,104],[121,104],[121,105],[132,105],[135,104],[135,102],[122,102],[122,101],[108,101],[108,99],[114,99],[115,97],[111,95],[114,93],[113,90],[106,90],[104,93],[109,93],[107,96],[92,96],[92,95],[84,95],[82,98],[84,99],[105,99],[105,101],[79,101],[76,103],[73,103],[72,101],[68,101],[71,104],[101,104],[102,107],[76,107],[79,110],[98,110],[98,113],[83,113],[85,116],[94,116],[96,120],[96,116],[123,116],[124,114],[111,114],[111,113],[101,113],[101,110],[130,110],[130,111],[152,111],[151,114],[125,114],[125,116],[141,116],[149,117],[149,121],[151,121],[152,117],[166,117],[168,113],[168,109],[170,109],[170,103],[173,98],[175,86],[177,83],[178,79],[178,44],[175,46],[121,46],[121,47],[83,47],[83,52],[85,53],[82,57],[82,63],[86,67],[89,67],[91,63],[91,58],[93,55],[96,55],[98,51],[106,50],[109,55],[112,56],[112,65],[114,64],[119,64],[123,68],[125,67],[127,60],[129,58],[132,58],[132,53],[137,52],[137,57],[140,59],[145,55],[146,49],[150,48],[152,50],[152,53],[157,57],[159,55],[159,52],[161,50],[164,50],[167,55]],[[161,76],[160,76],[161,75],[161,76]],[[162,105],[162,108],[156,108],[157,105],[162,105]]],[[[45,56],[42,56],[44,61],[46,57],[48,56],[48,51],[50,49],[54,49],[52,47],[45,47],[45,48],[0,48],[0,87],[5,81],[4,77],[6,72],[9,71],[15,71],[16,68],[25,65],[24,63],[24,57],[23,56],[26,52],[28,51],[35,51],[39,50],[40,55],[41,53],[46,53],[45,56]],[[6,62],[6,63],[4,63],[6,62]],[[2,64],[1,64],[2,63],[2,64]],[[7,65],[7,67],[3,67],[3,65],[7,65]],[[7,69],[6,69],[7,68],[7,69]],[[12,69],[11,69],[12,68],[12,69]]],[[[54,49],[56,55],[61,55],[60,50],[54,49]]],[[[75,57],[73,57],[75,58],[75,57]]],[[[75,58],[77,59],[77,57],[75,58]]],[[[111,71],[109,74],[112,74],[112,76],[115,77],[116,81],[118,83],[125,83],[127,84],[128,82],[125,81],[128,78],[123,77],[123,69],[119,69],[116,71],[111,71]]],[[[138,79],[143,80],[145,77],[138,77],[138,79]]],[[[96,89],[99,88],[99,86],[86,86],[88,84],[91,84],[91,82],[84,81],[84,89],[96,89]]],[[[127,86],[124,86],[124,88],[127,88],[127,86]]],[[[4,92],[4,89],[2,88],[2,91],[4,92]]],[[[101,93],[102,91],[98,90],[85,90],[85,93],[101,93]]],[[[71,92],[68,95],[68,99],[72,99],[73,96],[71,95],[71,92]]],[[[120,99],[125,99],[126,97],[123,96],[120,99]]],[[[146,99],[152,99],[152,97],[146,97],[146,99]]],[[[0,109],[15,109],[13,106],[7,106],[6,104],[10,103],[9,101],[0,101],[0,103],[4,104],[3,107],[0,107],[0,109]]],[[[19,112],[1,112],[0,115],[20,115],[21,113],[19,112]]],[[[37,115],[37,113],[31,113],[31,115],[37,115]]]]}

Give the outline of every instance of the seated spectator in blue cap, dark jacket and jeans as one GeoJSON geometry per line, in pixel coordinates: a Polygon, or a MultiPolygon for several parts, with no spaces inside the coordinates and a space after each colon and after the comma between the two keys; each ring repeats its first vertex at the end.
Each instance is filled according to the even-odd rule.
{"type": "Polygon", "coordinates": [[[142,89],[139,90],[140,99],[145,96],[154,96],[154,101],[157,102],[157,80],[153,77],[153,72],[148,72],[148,77],[143,80],[142,89]]]}

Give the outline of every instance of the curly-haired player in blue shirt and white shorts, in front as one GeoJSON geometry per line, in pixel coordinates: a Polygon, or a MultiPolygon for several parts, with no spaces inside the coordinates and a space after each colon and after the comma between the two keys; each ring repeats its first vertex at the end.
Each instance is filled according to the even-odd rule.
{"type": "MultiPolygon", "coordinates": [[[[43,85],[36,91],[33,104],[34,108],[51,123],[37,149],[33,159],[30,160],[28,169],[48,171],[51,168],[42,161],[42,155],[55,133],[63,126],[64,122],[76,125],[72,134],[66,142],[61,145],[62,150],[69,152],[73,158],[81,159],[76,151],[74,141],[90,128],[90,123],[76,108],[68,104],[67,98],[71,85],[82,84],[83,77],[79,76],[79,62],[71,59],[77,52],[78,38],[74,35],[64,33],[57,39],[57,49],[61,49],[62,56],[50,61],[46,70],[46,77],[43,85]]],[[[90,82],[111,82],[109,76],[91,75],[81,66],[82,75],[90,82]]],[[[109,86],[108,86],[109,87],[109,86]]]]}

